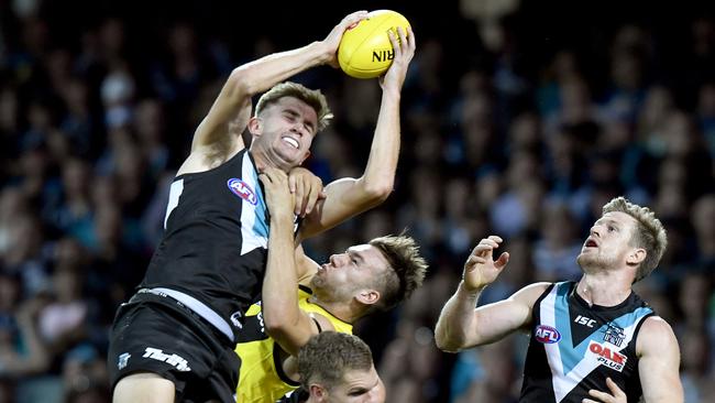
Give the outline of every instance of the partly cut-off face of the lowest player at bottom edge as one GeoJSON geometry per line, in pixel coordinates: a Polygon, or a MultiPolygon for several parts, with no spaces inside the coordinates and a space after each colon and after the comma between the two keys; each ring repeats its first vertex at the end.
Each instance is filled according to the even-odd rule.
{"type": "Polygon", "coordinates": [[[385,385],[375,367],[370,371],[348,371],[343,382],[330,388],[322,402],[326,403],[383,403],[385,385]]]}

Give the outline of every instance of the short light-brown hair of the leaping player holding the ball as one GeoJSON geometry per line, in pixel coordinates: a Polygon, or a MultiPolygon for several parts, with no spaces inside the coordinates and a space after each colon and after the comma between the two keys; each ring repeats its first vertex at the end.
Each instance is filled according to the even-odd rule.
{"type": "Polygon", "coordinates": [[[254,116],[260,116],[265,108],[285,97],[298,98],[308,104],[316,111],[316,115],[318,116],[317,131],[320,131],[330,124],[333,116],[328,107],[326,96],[322,95],[319,89],[310,89],[300,84],[290,81],[275,85],[268,91],[263,94],[255,106],[254,116]]]}

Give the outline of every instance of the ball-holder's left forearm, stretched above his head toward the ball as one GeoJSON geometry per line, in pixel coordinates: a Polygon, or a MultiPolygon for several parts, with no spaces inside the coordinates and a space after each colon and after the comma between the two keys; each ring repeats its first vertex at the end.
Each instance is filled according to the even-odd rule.
{"type": "Polygon", "coordinates": [[[305,69],[324,64],[329,56],[322,42],[314,42],[296,50],[261,57],[237,67],[231,75],[237,77],[248,94],[255,95],[305,69]]]}

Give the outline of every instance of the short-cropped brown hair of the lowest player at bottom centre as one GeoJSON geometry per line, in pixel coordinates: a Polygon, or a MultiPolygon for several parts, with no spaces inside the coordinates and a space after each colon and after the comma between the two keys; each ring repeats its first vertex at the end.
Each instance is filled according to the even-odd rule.
{"type": "Polygon", "coordinates": [[[372,367],[370,347],[360,337],[350,334],[320,333],[298,351],[298,373],[305,390],[310,390],[311,383],[334,386],[345,372],[369,371],[372,367]]]}

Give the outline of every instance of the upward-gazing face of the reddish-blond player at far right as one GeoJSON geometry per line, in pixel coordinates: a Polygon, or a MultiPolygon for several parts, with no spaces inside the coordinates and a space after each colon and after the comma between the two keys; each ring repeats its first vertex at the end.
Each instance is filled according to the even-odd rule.
{"type": "Polygon", "coordinates": [[[581,248],[578,262],[583,269],[618,268],[626,264],[628,253],[634,249],[630,240],[636,229],[636,219],[620,211],[604,214],[593,227],[581,248]]]}

